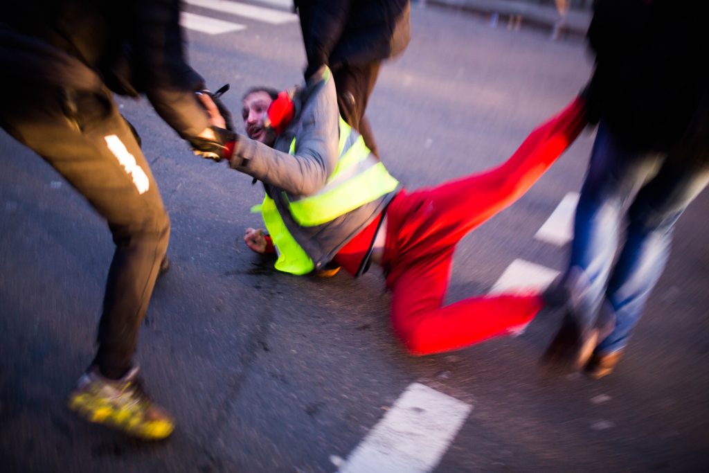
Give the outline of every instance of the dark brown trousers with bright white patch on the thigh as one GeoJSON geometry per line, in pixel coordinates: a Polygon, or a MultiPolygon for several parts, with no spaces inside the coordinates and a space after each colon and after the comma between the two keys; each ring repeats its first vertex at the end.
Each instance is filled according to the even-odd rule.
{"type": "Polygon", "coordinates": [[[157,184],[107,91],[14,90],[17,99],[3,100],[4,128],[55,167],[113,233],[116,252],[95,362],[106,377],[121,377],[132,365],[140,322],[167,251],[169,218],[157,184]]]}

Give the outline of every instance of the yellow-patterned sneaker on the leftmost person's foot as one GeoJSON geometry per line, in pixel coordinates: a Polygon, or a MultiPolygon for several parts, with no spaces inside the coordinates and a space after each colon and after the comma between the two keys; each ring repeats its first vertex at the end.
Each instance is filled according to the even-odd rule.
{"type": "Polygon", "coordinates": [[[89,369],[69,394],[69,409],[86,421],[123,430],[144,440],[166,438],[174,429],[172,418],[145,393],[133,367],[121,379],[107,379],[89,369]]]}

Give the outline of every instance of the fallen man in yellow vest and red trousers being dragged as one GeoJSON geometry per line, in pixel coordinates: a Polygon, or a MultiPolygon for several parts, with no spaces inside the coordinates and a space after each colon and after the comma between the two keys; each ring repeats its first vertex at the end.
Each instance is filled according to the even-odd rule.
{"type": "Polygon", "coordinates": [[[337,116],[336,101],[325,66],[275,100],[269,89],[244,97],[248,138],[238,135],[230,165],[264,183],[261,213],[269,232],[247,229],[245,243],[255,252],[277,252],[276,269],[291,274],[330,261],[353,276],[380,265],[391,290],[391,323],[413,355],[519,333],[545,305],[540,294],[444,304],[454,250],[523,196],[574,141],[585,125],[583,100],[539,126],[501,165],[416,191],[401,189],[337,116]]]}

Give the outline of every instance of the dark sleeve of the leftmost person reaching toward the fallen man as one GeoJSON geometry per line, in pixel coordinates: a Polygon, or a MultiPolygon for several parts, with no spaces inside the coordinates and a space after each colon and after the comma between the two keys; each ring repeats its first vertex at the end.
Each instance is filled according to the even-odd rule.
{"type": "Polygon", "coordinates": [[[186,62],[179,0],[142,0],[134,4],[133,45],[140,83],[155,111],[182,138],[208,126],[194,92],[204,80],[186,62]]]}

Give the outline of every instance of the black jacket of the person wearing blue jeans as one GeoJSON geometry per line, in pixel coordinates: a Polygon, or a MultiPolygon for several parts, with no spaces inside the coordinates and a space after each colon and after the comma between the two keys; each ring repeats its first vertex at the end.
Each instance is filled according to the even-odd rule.
{"type": "Polygon", "coordinates": [[[703,133],[707,113],[707,2],[596,0],[588,42],[596,69],[586,90],[603,120],[632,150],[668,152],[703,133]]]}

